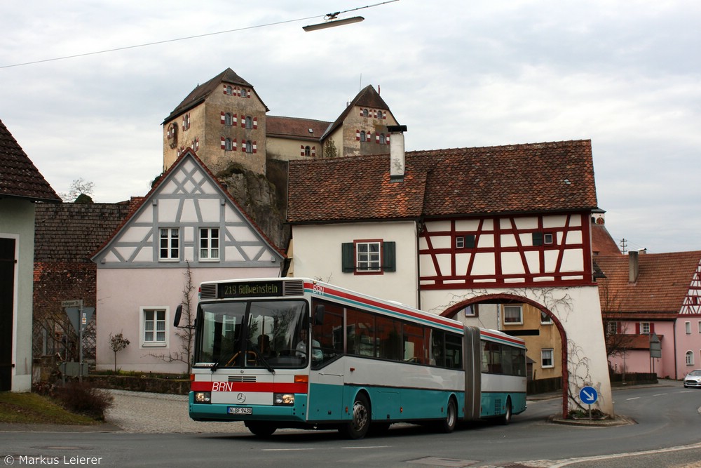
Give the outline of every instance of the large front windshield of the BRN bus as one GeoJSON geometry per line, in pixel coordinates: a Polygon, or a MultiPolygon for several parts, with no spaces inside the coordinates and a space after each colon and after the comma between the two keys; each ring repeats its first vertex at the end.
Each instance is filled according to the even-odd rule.
{"type": "Polygon", "coordinates": [[[303,368],[307,316],[304,300],[201,303],[195,366],[303,368]]]}

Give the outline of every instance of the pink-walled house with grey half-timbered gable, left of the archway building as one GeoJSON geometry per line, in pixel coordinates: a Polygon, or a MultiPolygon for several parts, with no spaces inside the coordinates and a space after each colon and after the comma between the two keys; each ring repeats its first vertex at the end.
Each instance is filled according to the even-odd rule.
{"type": "Polygon", "coordinates": [[[194,314],[201,281],[280,276],[283,258],[186,149],[93,255],[97,368],[116,357],[124,370],[185,371],[185,343],[171,325],[177,305],[194,314]],[[118,333],[130,345],[115,356],[109,340],[118,333]]]}

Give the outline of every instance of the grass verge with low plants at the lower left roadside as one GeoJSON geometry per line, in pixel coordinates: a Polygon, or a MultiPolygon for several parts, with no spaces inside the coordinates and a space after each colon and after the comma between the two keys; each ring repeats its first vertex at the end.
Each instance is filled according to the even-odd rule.
{"type": "Polygon", "coordinates": [[[0,422],[13,424],[100,424],[91,417],[65,410],[46,396],[0,392],[0,422]]]}

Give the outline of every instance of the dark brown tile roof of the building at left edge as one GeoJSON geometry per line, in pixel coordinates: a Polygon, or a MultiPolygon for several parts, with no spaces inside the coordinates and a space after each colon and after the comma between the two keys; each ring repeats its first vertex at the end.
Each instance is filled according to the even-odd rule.
{"type": "Polygon", "coordinates": [[[17,140],[0,121],[0,197],[60,202],[17,140]]]}

